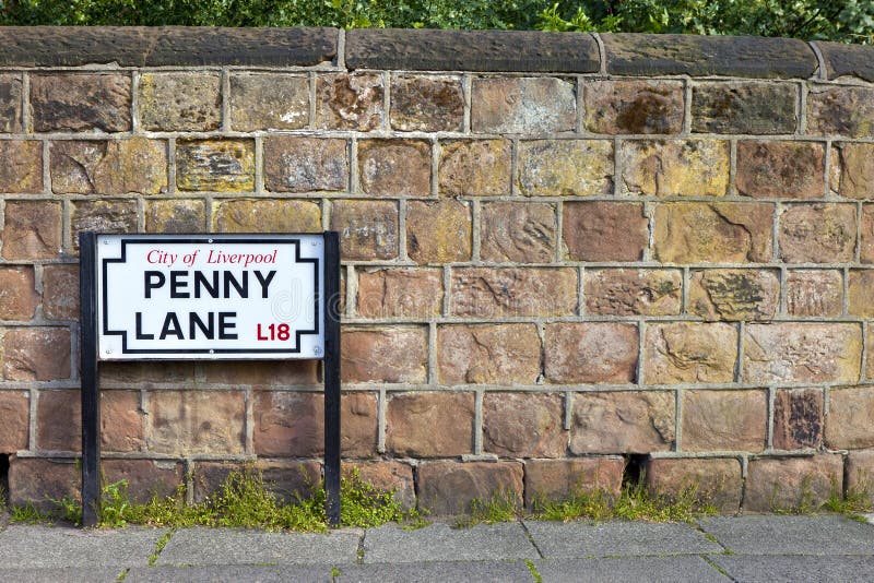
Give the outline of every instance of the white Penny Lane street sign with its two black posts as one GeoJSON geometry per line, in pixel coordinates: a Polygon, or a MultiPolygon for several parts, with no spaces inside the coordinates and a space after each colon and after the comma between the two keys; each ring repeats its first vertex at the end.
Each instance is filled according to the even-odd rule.
{"type": "Polygon", "coordinates": [[[99,516],[102,360],[320,359],[340,523],[340,250],[319,235],[80,234],[82,522],[99,516]]]}

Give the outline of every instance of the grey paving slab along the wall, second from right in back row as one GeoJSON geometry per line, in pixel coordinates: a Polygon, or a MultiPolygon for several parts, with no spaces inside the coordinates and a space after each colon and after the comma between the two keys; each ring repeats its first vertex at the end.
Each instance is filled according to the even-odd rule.
{"type": "Polygon", "coordinates": [[[525,521],[525,526],[547,558],[699,555],[724,550],[685,524],[525,521]]]}

